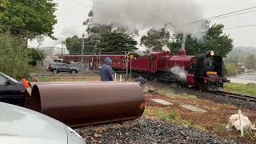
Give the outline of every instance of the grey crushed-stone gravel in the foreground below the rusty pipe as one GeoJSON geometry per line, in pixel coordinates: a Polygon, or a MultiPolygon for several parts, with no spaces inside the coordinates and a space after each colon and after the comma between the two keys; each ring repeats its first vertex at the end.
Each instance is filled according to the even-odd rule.
{"type": "Polygon", "coordinates": [[[239,143],[149,118],[76,130],[88,143],[239,143]]]}

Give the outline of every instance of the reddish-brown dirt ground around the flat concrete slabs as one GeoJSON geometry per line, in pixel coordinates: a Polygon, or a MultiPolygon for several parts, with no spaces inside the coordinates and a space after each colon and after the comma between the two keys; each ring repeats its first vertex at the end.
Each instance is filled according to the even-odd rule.
{"type": "MultiPolygon", "coordinates": [[[[167,112],[175,111],[182,119],[186,121],[193,122],[194,125],[201,126],[203,129],[209,131],[212,134],[216,134],[223,138],[230,138],[245,143],[256,142],[256,134],[252,133],[246,138],[240,137],[240,132],[237,130],[227,131],[225,126],[228,122],[228,118],[232,114],[238,113],[238,108],[230,105],[219,104],[215,102],[210,102],[207,100],[202,100],[198,98],[193,98],[191,96],[187,97],[186,94],[176,95],[176,94],[146,94],[146,109],[151,109],[152,107],[164,107],[167,112]],[[167,102],[172,102],[172,106],[163,106],[156,102],[150,101],[150,99],[160,98],[166,100],[167,102]],[[191,106],[196,106],[202,110],[206,110],[206,113],[192,112],[182,108],[181,104],[187,104],[191,106]]],[[[242,110],[242,114],[245,114],[250,121],[256,123],[256,111],[255,110],[242,110]]],[[[148,116],[152,116],[148,114],[148,116]]]]}

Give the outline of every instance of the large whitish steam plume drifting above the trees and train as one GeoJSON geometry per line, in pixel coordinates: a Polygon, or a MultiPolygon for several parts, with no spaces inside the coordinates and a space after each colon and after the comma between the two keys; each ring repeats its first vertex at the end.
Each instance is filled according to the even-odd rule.
{"type": "Polygon", "coordinates": [[[200,36],[202,6],[194,0],[93,0],[94,22],[129,27],[159,29],[174,26],[175,32],[200,36]]]}

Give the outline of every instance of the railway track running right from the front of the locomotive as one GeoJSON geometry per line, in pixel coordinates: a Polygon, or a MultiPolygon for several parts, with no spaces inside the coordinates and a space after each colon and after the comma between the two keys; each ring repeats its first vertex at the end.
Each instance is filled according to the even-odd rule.
{"type": "Polygon", "coordinates": [[[226,92],[226,91],[211,91],[209,93],[223,95],[223,96],[230,97],[230,98],[242,99],[242,100],[248,101],[248,102],[256,102],[256,97],[252,97],[252,96],[248,96],[248,95],[244,95],[244,94],[234,94],[234,93],[230,93],[230,92],[226,92]]]}

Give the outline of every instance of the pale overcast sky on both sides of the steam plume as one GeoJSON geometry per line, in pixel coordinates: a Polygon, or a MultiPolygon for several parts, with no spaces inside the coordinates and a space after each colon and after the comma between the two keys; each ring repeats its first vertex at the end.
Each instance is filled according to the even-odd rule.
{"type": "MultiPolygon", "coordinates": [[[[256,6],[256,0],[195,1],[202,6],[205,18],[256,6]]],[[[86,30],[85,26],[82,26],[82,22],[86,20],[87,14],[92,7],[93,0],[54,0],[54,2],[58,3],[58,8],[55,13],[58,19],[58,24],[54,26],[54,36],[58,38],[58,41],[54,42],[50,40],[50,38],[45,38],[42,46],[54,46],[65,38],[73,36],[74,34],[82,35],[82,33],[86,30]]],[[[212,20],[212,23],[214,22],[224,24],[225,28],[256,25],[256,11],[230,18],[212,20]]],[[[256,26],[224,30],[224,32],[226,34],[230,34],[230,37],[234,39],[234,46],[256,47],[256,26]]],[[[30,46],[37,46],[37,42],[31,42],[30,46]]]]}

